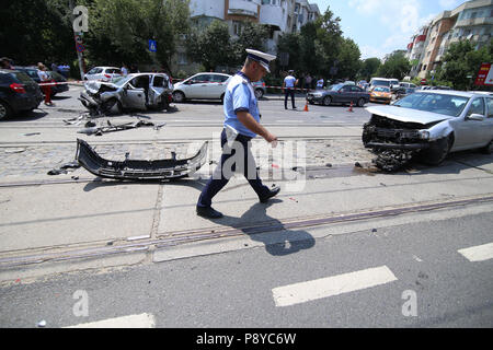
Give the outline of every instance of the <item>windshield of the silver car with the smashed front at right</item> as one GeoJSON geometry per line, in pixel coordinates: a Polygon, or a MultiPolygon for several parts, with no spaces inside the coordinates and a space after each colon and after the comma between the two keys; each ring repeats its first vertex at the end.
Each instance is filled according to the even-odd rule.
{"type": "Polygon", "coordinates": [[[457,95],[442,95],[416,92],[395,102],[393,105],[457,117],[469,98],[457,95]]]}

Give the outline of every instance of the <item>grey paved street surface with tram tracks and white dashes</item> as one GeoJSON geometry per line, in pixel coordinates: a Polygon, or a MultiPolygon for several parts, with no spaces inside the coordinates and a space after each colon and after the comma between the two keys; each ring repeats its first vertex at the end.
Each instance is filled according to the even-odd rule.
{"type": "Polygon", "coordinates": [[[111,117],[165,126],[96,137],[64,121],[83,113],[79,91],[0,124],[1,327],[125,316],[141,327],[492,326],[491,155],[358,168],[372,158],[360,144],[364,108],[306,112],[299,97],[285,110],[267,96],[262,122],[282,142],[253,148],[262,178],[282,191],[263,205],[236,176],[214,201],[225,218],[210,221],[195,203],[220,154],[219,103],[111,117]],[[48,175],[73,161],[77,138],[112,160],[184,158],[205,141],[209,152],[180,182],[48,175]],[[90,298],[88,316],[73,314],[76,291],[90,298]],[[414,296],[416,315],[405,304],[414,296]]]}

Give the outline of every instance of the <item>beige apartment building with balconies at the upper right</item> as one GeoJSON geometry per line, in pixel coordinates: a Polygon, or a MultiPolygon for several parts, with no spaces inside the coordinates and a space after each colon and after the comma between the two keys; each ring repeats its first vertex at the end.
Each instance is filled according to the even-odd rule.
{"type": "Polygon", "coordinates": [[[493,0],[472,0],[444,11],[420,28],[408,45],[412,63],[411,77],[433,75],[452,43],[470,40],[477,49],[491,42],[493,34],[493,0]]]}

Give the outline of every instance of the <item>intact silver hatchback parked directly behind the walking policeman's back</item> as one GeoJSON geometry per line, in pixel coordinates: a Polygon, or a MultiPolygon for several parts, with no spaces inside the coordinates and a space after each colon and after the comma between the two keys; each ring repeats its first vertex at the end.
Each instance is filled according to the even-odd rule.
{"type": "Polygon", "coordinates": [[[221,100],[231,75],[222,73],[197,73],[174,84],[173,101],[221,100]]]}

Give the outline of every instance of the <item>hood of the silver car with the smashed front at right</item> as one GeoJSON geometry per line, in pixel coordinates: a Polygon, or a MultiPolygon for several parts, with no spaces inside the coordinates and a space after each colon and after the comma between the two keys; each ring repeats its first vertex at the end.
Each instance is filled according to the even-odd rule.
{"type": "Polygon", "coordinates": [[[382,117],[387,117],[403,122],[429,124],[454,118],[451,116],[447,116],[444,114],[397,106],[375,106],[375,107],[366,107],[365,109],[371,114],[376,114],[382,117]]]}

